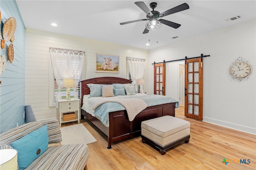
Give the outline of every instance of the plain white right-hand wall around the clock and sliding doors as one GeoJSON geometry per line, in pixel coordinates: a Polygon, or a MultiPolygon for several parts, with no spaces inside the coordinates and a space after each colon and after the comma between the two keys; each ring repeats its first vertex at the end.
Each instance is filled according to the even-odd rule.
{"type": "MultiPolygon", "coordinates": [[[[154,81],[151,63],[163,60],[204,58],[203,121],[256,134],[256,20],[178,41],[149,52],[149,82],[154,81]],[[157,56],[157,57],[156,57],[157,56]],[[228,67],[237,57],[254,68],[244,83],[230,81],[228,67]],[[156,60],[157,59],[157,60],[156,60]]],[[[149,91],[152,93],[153,84],[149,91]]],[[[167,63],[166,95],[178,99],[178,63],[167,63]],[[168,93],[167,93],[168,91],[168,93]]]]}

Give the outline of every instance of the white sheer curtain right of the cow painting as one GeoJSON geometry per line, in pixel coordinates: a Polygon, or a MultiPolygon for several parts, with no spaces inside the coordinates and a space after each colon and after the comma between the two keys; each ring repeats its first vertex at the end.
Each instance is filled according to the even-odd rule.
{"type": "Polygon", "coordinates": [[[146,59],[126,57],[127,71],[130,73],[132,81],[136,84],[137,79],[143,79],[146,59]]]}

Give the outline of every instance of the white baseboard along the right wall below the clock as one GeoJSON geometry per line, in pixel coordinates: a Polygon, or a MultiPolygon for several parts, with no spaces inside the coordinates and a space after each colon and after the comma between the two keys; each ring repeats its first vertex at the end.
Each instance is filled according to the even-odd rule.
{"type": "Polygon", "coordinates": [[[239,130],[239,131],[250,133],[250,134],[256,134],[256,129],[255,128],[245,127],[245,126],[242,126],[242,125],[236,125],[236,124],[233,124],[233,123],[219,121],[219,120],[216,120],[216,119],[210,119],[210,118],[207,118],[207,117],[203,117],[203,122],[207,122],[207,123],[211,123],[211,124],[214,124],[214,125],[219,125],[219,126],[222,126],[222,127],[239,130]]]}

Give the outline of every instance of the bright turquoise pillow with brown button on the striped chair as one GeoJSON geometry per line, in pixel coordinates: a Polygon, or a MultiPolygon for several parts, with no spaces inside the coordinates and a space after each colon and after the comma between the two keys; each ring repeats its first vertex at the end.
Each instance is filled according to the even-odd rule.
{"type": "Polygon", "coordinates": [[[18,140],[15,140],[11,143],[11,146],[18,151],[19,170],[23,170],[47,150],[47,125],[34,130],[18,140]]]}

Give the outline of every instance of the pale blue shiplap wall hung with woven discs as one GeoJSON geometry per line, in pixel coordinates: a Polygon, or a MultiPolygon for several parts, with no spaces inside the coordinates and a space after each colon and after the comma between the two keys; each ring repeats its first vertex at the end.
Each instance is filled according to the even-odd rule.
{"type": "MultiPolygon", "coordinates": [[[[14,17],[17,22],[14,33],[14,61],[6,61],[6,69],[0,75],[0,133],[24,124],[23,112],[25,105],[25,26],[20,16],[15,0],[0,0],[2,21],[14,17]]],[[[2,37],[1,37],[2,39],[2,37]]],[[[0,48],[0,55],[8,60],[7,51],[9,42],[5,42],[4,49],[0,48]]]]}

